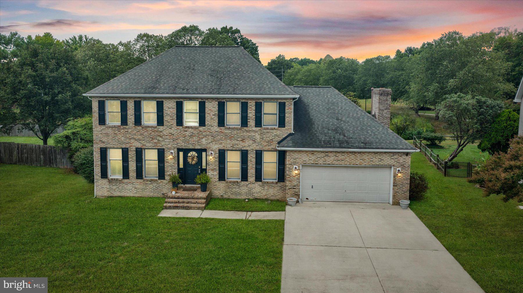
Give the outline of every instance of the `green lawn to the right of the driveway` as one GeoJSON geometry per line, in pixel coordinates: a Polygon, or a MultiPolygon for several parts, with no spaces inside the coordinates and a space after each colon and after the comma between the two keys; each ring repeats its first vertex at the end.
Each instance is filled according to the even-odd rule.
{"type": "Polygon", "coordinates": [[[464,178],[444,177],[421,153],[411,170],[427,175],[425,199],[411,209],[486,292],[523,288],[523,210],[501,196],[484,197],[464,178]]]}

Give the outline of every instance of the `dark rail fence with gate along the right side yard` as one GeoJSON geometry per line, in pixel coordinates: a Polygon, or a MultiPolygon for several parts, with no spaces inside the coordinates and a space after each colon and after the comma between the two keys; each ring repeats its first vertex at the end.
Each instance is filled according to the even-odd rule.
{"type": "Polygon", "coordinates": [[[421,140],[414,136],[414,146],[422,152],[430,163],[443,173],[444,176],[449,177],[464,177],[470,178],[472,176],[472,165],[470,162],[447,162],[441,160],[439,155],[435,154],[429,149],[421,140]]]}

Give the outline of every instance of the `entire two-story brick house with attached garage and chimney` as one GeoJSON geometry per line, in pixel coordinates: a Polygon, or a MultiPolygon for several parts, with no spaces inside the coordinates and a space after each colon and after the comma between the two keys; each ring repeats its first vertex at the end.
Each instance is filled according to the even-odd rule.
{"type": "Polygon", "coordinates": [[[96,196],[163,196],[207,172],[212,197],[408,199],[389,89],[367,114],[332,87],[287,87],[240,46],[176,46],[85,95],[96,196]],[[382,121],[385,126],[378,121],[382,121]]]}

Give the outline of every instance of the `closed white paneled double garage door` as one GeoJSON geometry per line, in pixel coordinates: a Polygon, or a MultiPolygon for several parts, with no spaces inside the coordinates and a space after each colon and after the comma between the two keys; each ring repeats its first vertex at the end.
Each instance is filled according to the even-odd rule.
{"type": "Polygon", "coordinates": [[[309,201],[389,202],[391,167],[303,165],[301,198],[309,201]]]}

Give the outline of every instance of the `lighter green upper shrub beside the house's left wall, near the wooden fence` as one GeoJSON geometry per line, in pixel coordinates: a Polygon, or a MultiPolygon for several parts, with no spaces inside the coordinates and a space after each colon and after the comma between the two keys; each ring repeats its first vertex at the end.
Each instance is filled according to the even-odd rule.
{"type": "Polygon", "coordinates": [[[93,117],[78,118],[64,126],[64,132],[53,136],[54,144],[69,148],[69,158],[93,145],[93,117]]]}

